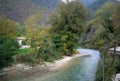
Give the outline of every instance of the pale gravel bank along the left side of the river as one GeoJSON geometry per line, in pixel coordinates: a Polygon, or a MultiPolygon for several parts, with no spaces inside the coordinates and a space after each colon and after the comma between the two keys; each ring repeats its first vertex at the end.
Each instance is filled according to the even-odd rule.
{"type": "Polygon", "coordinates": [[[52,63],[46,62],[43,65],[37,65],[34,67],[25,64],[16,64],[4,69],[4,73],[0,75],[0,81],[11,81],[11,79],[31,77],[32,75],[43,76],[47,73],[62,69],[71,59],[82,56],[89,56],[89,54],[64,56],[62,59],[56,60],[52,63]]]}

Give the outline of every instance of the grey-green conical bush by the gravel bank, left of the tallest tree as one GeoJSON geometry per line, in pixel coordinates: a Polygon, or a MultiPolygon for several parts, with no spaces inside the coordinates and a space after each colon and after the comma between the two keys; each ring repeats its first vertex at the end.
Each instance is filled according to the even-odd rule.
{"type": "MultiPolygon", "coordinates": [[[[47,37],[46,37],[47,38],[47,37]]],[[[55,59],[60,58],[59,51],[56,51],[54,48],[54,44],[51,41],[51,39],[44,39],[44,42],[42,43],[41,47],[38,51],[38,57],[42,61],[53,61],[55,59]]]]}

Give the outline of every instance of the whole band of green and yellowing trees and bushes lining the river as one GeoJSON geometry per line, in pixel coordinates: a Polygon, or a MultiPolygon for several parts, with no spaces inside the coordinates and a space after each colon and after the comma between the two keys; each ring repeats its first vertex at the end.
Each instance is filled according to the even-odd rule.
{"type": "MultiPolygon", "coordinates": [[[[42,11],[21,23],[0,16],[0,68],[14,63],[29,65],[54,61],[76,53],[78,47],[100,50],[105,57],[105,81],[120,72],[119,58],[109,58],[109,48],[120,45],[120,3],[106,2],[94,16],[80,2],[59,3],[43,25],[42,11]],[[42,24],[41,24],[42,23],[42,24]],[[16,37],[25,36],[29,49],[19,49],[16,37]],[[111,66],[112,64],[112,66],[111,66]]],[[[101,81],[101,62],[96,81],[101,81]]]]}

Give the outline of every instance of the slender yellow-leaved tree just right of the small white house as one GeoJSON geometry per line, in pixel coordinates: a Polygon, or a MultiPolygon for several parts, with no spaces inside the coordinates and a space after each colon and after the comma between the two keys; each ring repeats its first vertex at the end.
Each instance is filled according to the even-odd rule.
{"type": "Polygon", "coordinates": [[[25,21],[26,31],[25,36],[31,40],[31,46],[34,48],[36,57],[38,56],[37,47],[41,44],[42,28],[40,26],[41,13],[36,13],[28,17],[25,21]]]}

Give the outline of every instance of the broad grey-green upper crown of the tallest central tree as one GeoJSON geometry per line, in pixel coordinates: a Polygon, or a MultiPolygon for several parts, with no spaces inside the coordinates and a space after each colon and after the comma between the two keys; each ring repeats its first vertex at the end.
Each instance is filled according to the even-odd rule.
{"type": "Polygon", "coordinates": [[[80,36],[86,15],[86,8],[80,2],[61,3],[50,19],[52,31],[56,33],[69,31],[80,36]]]}

